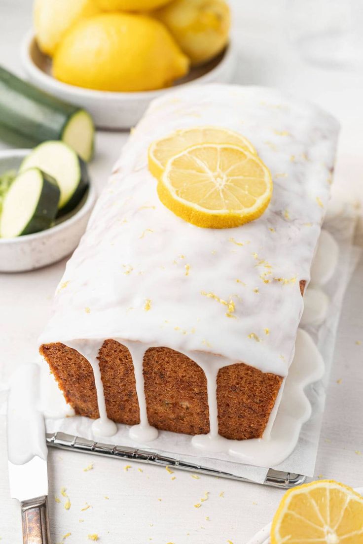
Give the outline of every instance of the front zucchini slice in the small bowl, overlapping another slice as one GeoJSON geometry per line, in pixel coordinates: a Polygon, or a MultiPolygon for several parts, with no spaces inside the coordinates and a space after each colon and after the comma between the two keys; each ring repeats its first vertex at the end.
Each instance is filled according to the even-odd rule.
{"type": "Polygon", "coordinates": [[[14,238],[44,231],[57,214],[59,187],[39,168],[17,175],[5,195],[0,219],[0,236],[14,238]]]}

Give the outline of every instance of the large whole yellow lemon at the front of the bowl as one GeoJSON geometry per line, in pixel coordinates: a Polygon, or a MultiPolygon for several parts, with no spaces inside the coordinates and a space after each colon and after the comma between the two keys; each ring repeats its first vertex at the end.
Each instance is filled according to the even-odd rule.
{"type": "Polygon", "coordinates": [[[162,23],[127,13],[78,22],[53,59],[53,75],[60,81],[103,91],[160,89],[188,67],[189,59],[162,23]]]}

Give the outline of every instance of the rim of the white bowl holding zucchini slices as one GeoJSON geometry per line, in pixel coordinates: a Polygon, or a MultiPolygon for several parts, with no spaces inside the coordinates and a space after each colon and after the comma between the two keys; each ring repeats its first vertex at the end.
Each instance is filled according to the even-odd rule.
{"type": "MultiPolygon", "coordinates": [[[[30,153],[30,149],[9,149],[0,151],[0,167],[2,159],[5,158],[21,158],[26,157],[30,153]]],[[[79,220],[83,219],[84,215],[87,215],[94,206],[96,201],[96,191],[93,187],[93,184],[89,184],[88,195],[85,199],[83,206],[72,215],[70,218],[65,219],[59,225],[54,225],[53,227],[46,228],[44,231],[34,232],[33,234],[24,234],[23,236],[17,236],[16,238],[0,238],[0,245],[13,245],[13,244],[24,244],[35,239],[44,239],[47,237],[56,234],[64,230],[65,228],[70,227],[71,225],[77,223],[79,220]]]]}

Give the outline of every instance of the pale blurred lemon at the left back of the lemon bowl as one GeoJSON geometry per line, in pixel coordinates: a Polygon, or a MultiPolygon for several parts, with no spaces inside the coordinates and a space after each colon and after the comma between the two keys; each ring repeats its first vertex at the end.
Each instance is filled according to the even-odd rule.
{"type": "Polygon", "coordinates": [[[73,23],[100,11],[95,0],[35,0],[33,22],[41,51],[52,57],[73,23]]]}

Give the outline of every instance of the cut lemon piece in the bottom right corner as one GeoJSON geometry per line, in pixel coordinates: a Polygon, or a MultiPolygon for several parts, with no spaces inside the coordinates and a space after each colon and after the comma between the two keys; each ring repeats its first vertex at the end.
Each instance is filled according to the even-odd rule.
{"type": "Polygon", "coordinates": [[[285,493],[271,528],[272,544],[361,544],[363,497],[334,480],[285,493]]]}

